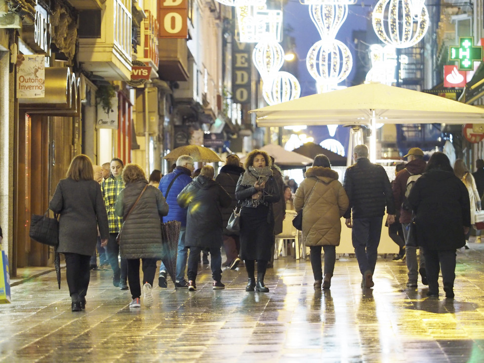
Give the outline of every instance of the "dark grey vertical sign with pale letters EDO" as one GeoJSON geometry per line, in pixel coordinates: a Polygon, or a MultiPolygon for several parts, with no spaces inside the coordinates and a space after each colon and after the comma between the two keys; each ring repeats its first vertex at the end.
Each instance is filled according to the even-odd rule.
{"type": "Polygon", "coordinates": [[[251,99],[252,45],[237,40],[232,44],[232,101],[248,104],[251,99]]]}

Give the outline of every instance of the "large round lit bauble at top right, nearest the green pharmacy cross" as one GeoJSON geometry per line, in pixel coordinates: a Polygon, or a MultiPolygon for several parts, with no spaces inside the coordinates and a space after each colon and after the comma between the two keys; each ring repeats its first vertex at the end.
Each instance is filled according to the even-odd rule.
{"type": "Polygon", "coordinates": [[[397,48],[415,45],[429,28],[424,0],[379,0],[372,19],[378,38],[397,48]]]}

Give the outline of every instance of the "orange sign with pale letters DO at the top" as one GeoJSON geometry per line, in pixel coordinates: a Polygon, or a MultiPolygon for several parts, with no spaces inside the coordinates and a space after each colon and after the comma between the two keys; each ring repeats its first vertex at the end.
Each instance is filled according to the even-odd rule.
{"type": "Polygon", "coordinates": [[[187,38],[188,0],[158,0],[160,38],[187,38]]]}

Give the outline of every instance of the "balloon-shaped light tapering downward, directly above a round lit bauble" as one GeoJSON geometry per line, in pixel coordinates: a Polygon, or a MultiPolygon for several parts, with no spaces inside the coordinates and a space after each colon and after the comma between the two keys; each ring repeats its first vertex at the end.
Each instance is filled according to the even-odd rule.
{"type": "Polygon", "coordinates": [[[311,5],[309,14],[318,28],[321,39],[335,38],[348,15],[348,5],[311,5]]]}

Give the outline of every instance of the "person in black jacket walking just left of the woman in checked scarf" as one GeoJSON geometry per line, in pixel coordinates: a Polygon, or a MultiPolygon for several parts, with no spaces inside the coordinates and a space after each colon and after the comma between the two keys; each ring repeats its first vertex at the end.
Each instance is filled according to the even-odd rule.
{"type": "Polygon", "coordinates": [[[239,258],[239,252],[241,249],[241,242],[239,235],[235,235],[232,232],[227,231],[227,223],[229,222],[230,215],[234,211],[237,205],[237,199],[235,198],[235,188],[239,177],[244,172],[243,167],[240,166],[241,160],[237,155],[229,155],[225,161],[225,165],[220,169],[220,173],[215,178],[222,187],[229,193],[232,198],[232,202],[226,208],[222,209],[222,226],[224,228],[224,248],[227,260],[222,264],[231,270],[235,270],[241,259],[239,258]]]}

